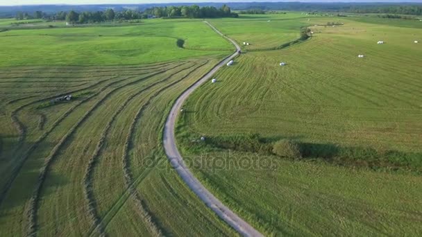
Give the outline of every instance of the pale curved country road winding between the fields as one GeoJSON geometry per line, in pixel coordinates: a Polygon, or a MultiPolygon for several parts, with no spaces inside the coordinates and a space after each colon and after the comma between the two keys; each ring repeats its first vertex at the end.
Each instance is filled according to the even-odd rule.
{"type": "Polygon", "coordinates": [[[213,69],[211,69],[210,72],[205,74],[203,78],[195,82],[194,85],[189,87],[185,92],[183,92],[182,95],[176,100],[176,103],[174,103],[173,107],[171,108],[170,114],[167,118],[167,121],[164,125],[164,134],[163,134],[163,142],[164,142],[164,150],[166,151],[167,157],[171,163],[171,166],[176,169],[177,173],[182,177],[183,181],[189,186],[189,188],[194,191],[196,195],[208,206],[212,211],[214,211],[221,219],[223,219],[225,222],[227,222],[228,225],[233,227],[239,234],[242,234],[242,236],[262,236],[260,232],[258,232],[256,229],[251,227],[246,221],[242,220],[242,218],[239,218],[233,211],[231,211],[228,207],[224,206],[223,203],[220,202],[217,198],[215,198],[210,191],[205,188],[199,182],[196,177],[194,177],[194,174],[185,166],[185,162],[183,161],[183,157],[180,155],[177,147],[176,147],[176,139],[174,138],[174,128],[175,128],[175,122],[176,117],[178,116],[178,112],[180,111],[183,102],[187,99],[187,97],[192,94],[192,91],[194,89],[198,88],[200,85],[202,85],[204,82],[209,80],[212,75],[219,70],[221,67],[225,66],[226,63],[233,58],[235,58],[237,55],[239,55],[240,47],[237,45],[237,43],[234,40],[231,40],[230,38],[223,35],[217,28],[214,28],[208,21],[204,21],[205,24],[208,24],[215,32],[219,33],[222,37],[225,37],[227,40],[232,42],[236,46],[236,52],[233,53],[233,55],[230,55],[228,58],[222,60],[217,66],[215,66],[213,69]]]}

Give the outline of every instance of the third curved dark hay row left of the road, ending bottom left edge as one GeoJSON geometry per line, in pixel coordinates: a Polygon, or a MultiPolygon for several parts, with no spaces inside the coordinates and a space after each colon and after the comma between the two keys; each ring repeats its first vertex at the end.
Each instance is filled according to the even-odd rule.
{"type": "MultiPolygon", "coordinates": [[[[180,66],[180,65],[179,64],[176,65],[176,67],[178,67],[178,66],[180,66]]],[[[174,69],[176,67],[173,67],[171,69],[174,69]]],[[[167,69],[167,70],[171,70],[171,69],[167,69]]],[[[167,70],[162,70],[162,71],[159,71],[157,73],[153,73],[149,76],[146,76],[145,78],[140,78],[140,79],[137,79],[135,81],[128,82],[125,85],[120,85],[119,87],[115,87],[114,89],[109,91],[107,94],[105,94],[105,96],[103,96],[103,98],[101,98],[97,103],[95,103],[95,105],[93,105],[90,110],[85,112],[85,114],[81,117],[81,119],[79,119],[78,122],[76,122],[76,124],[73,125],[70,128],[69,132],[67,132],[65,134],[65,136],[62,137],[62,139],[60,139],[59,143],[53,148],[50,155],[45,159],[44,166],[41,168],[40,176],[38,177],[38,180],[37,180],[37,184],[35,184],[35,190],[33,191],[33,196],[31,197],[31,199],[29,200],[29,203],[28,203],[28,207],[27,207],[28,211],[26,211],[27,212],[26,216],[28,218],[28,227],[27,227],[27,235],[28,236],[36,236],[37,235],[37,217],[36,216],[37,216],[38,202],[39,202],[39,199],[40,199],[40,192],[41,192],[41,189],[42,189],[42,184],[44,184],[45,178],[47,177],[47,172],[49,170],[49,167],[53,163],[54,159],[57,157],[58,152],[60,151],[62,146],[69,140],[71,135],[74,134],[76,129],[79,128],[81,126],[81,124],[87,120],[87,118],[92,114],[92,112],[94,112],[94,110],[97,109],[103,103],[103,101],[108,98],[108,96],[113,94],[118,89],[127,87],[128,85],[133,85],[137,82],[140,82],[142,80],[146,80],[148,78],[152,78],[153,76],[157,76],[157,75],[159,75],[159,74],[161,74],[161,73],[163,73],[164,71],[167,71],[167,70]]]]}

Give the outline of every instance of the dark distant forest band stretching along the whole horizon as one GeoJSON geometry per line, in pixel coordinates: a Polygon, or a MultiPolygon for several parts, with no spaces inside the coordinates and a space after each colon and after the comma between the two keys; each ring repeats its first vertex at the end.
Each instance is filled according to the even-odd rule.
{"type": "MultiPolygon", "coordinates": [[[[151,3],[151,4],[103,4],[103,5],[43,5],[43,6],[0,6],[0,18],[21,17],[28,19],[31,17],[42,18],[51,17],[58,12],[74,11],[78,14],[83,12],[105,13],[112,9],[116,16],[121,19],[141,19],[146,15],[157,17],[189,17],[189,18],[209,18],[209,17],[236,17],[230,11],[238,10],[245,13],[260,13],[271,10],[282,11],[305,11],[305,12],[353,12],[353,13],[378,13],[390,15],[422,15],[422,3],[301,3],[301,2],[250,2],[250,3],[151,3]],[[182,10],[187,9],[187,14],[182,10]],[[36,13],[37,12],[37,13],[36,13]],[[118,15],[121,14],[121,15],[118,15]],[[129,15],[132,15],[129,17],[129,15]]],[[[186,13],[186,12],[185,12],[186,13]]]]}

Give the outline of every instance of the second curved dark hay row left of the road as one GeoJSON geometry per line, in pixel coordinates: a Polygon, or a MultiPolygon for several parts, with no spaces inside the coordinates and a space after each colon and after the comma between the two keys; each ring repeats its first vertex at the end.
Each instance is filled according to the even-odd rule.
{"type": "MultiPolygon", "coordinates": [[[[199,67],[196,67],[194,70],[196,70],[198,68],[199,67]]],[[[190,69],[190,67],[187,68],[187,69],[190,69]]],[[[181,71],[184,71],[184,70],[187,70],[187,69],[183,69],[181,71]]],[[[180,71],[178,71],[177,73],[180,73],[180,71]]],[[[174,76],[175,74],[173,74],[171,76],[174,76]]],[[[101,134],[101,139],[97,143],[96,149],[94,150],[92,157],[90,157],[87,169],[85,171],[85,177],[83,179],[84,187],[85,187],[84,193],[85,193],[85,198],[87,199],[88,210],[90,210],[90,215],[91,215],[92,221],[94,222],[94,229],[92,229],[90,231],[90,236],[92,235],[92,232],[95,231],[95,230],[99,231],[100,236],[105,236],[105,227],[103,227],[103,223],[101,221],[101,218],[99,218],[98,213],[96,213],[96,201],[95,201],[95,198],[94,198],[94,193],[92,191],[92,179],[93,179],[92,175],[93,175],[93,171],[94,171],[94,167],[96,165],[97,159],[99,159],[99,156],[101,155],[101,152],[103,150],[105,138],[107,137],[108,132],[110,132],[111,125],[112,125],[112,123],[114,123],[115,119],[117,118],[117,115],[120,114],[120,112],[126,107],[126,105],[128,105],[128,103],[130,103],[130,101],[133,100],[133,98],[135,98],[136,96],[139,96],[140,94],[142,94],[147,89],[149,89],[149,88],[151,88],[155,85],[158,85],[159,83],[164,82],[167,79],[168,78],[165,78],[164,80],[160,80],[159,82],[154,82],[153,84],[145,87],[144,89],[138,91],[137,93],[129,96],[129,98],[126,99],[124,104],[121,105],[119,107],[119,109],[117,109],[115,114],[113,114],[112,119],[110,119],[110,121],[107,123],[107,125],[105,125],[103,133],[101,134]]]]}

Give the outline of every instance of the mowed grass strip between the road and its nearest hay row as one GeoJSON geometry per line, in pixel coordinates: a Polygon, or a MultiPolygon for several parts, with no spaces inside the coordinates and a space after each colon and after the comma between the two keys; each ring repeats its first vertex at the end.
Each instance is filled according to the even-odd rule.
{"type": "MultiPolygon", "coordinates": [[[[153,211],[155,217],[162,223],[164,230],[168,233],[164,233],[166,235],[183,236],[186,233],[192,233],[194,236],[235,235],[233,230],[228,229],[226,224],[206,208],[201,200],[192,191],[189,191],[185,183],[180,180],[178,174],[168,164],[161,143],[162,128],[167,119],[162,114],[169,113],[171,105],[180,93],[194,84],[196,80],[193,79],[201,78],[215,64],[217,61],[201,68],[188,80],[179,82],[178,85],[170,87],[160,96],[151,100],[150,105],[142,113],[140,122],[136,125],[133,143],[137,144],[137,148],[130,152],[133,155],[131,168],[135,176],[142,175],[143,181],[135,186],[137,186],[137,191],[142,193],[147,206],[153,211]],[[152,157],[158,159],[152,159],[152,157]],[[149,171],[151,168],[139,169],[140,164],[144,163],[142,160],[146,159],[148,159],[147,162],[158,163],[158,166],[154,166],[151,172],[149,171]],[[162,184],[160,175],[167,177],[171,189],[162,184]],[[175,195],[175,193],[177,194],[175,195]],[[162,200],[167,200],[167,202],[162,202],[162,200]],[[169,219],[168,216],[177,216],[178,218],[169,219]],[[189,225],[185,225],[186,222],[189,222],[189,225]],[[205,223],[208,224],[205,225],[205,223]],[[192,228],[197,226],[201,227],[192,228]]],[[[115,223],[115,225],[124,225],[120,220],[115,223]]]]}

